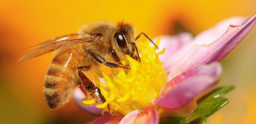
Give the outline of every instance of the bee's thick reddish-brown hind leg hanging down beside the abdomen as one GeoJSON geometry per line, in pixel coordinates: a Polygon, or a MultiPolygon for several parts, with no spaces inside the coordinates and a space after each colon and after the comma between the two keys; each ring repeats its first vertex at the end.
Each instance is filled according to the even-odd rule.
{"type": "MultiPolygon", "coordinates": [[[[78,75],[82,81],[82,86],[86,88],[86,90],[89,92],[89,94],[91,94],[92,98],[95,99],[95,101],[99,104],[103,104],[104,102],[106,102],[106,99],[104,98],[104,96],[101,94],[101,90],[95,86],[93,84],[93,82],[91,82],[91,80],[89,80],[89,78],[87,78],[87,76],[85,76],[85,74],[82,72],[83,71],[88,71],[90,70],[91,66],[81,66],[78,67],[78,75]]],[[[113,112],[110,111],[110,106],[109,104],[107,104],[108,110],[109,110],[109,114],[114,114],[113,112]]]]}

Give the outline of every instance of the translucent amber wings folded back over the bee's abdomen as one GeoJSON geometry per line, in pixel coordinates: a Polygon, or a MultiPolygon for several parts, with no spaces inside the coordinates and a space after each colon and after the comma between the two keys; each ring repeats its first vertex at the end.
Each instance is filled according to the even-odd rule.
{"type": "MultiPolygon", "coordinates": [[[[36,44],[34,46],[31,46],[29,48],[33,48],[38,46],[37,48],[31,50],[29,53],[22,56],[19,61],[28,60],[30,58],[34,58],[37,56],[41,56],[43,54],[47,54],[49,52],[52,52],[54,50],[58,50],[60,48],[70,46],[73,44],[79,44],[82,42],[93,42],[94,37],[83,37],[79,36],[78,34],[68,34],[64,36],[59,36],[56,38],[52,38],[51,40],[47,40],[45,42],[36,44]]],[[[27,49],[29,49],[27,48],[27,49]]]]}

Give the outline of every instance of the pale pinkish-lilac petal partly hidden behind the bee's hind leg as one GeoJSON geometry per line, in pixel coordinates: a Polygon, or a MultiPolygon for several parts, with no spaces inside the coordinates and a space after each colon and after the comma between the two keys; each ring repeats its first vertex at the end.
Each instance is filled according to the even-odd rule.
{"type": "Polygon", "coordinates": [[[89,112],[94,115],[101,115],[101,109],[96,108],[95,105],[89,105],[85,106],[81,104],[83,102],[83,99],[86,98],[85,94],[81,91],[80,88],[76,88],[74,90],[73,94],[74,101],[76,102],[76,105],[81,108],[82,110],[85,110],[86,112],[89,112]]]}

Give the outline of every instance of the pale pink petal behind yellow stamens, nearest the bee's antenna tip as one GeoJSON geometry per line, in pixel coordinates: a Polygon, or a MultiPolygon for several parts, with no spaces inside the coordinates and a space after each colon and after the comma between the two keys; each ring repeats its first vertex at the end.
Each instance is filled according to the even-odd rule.
{"type": "MultiPolygon", "coordinates": [[[[155,38],[156,39],[156,38],[155,38]]],[[[169,58],[184,45],[188,44],[192,39],[192,35],[190,33],[180,33],[175,36],[161,36],[161,42],[159,43],[156,51],[162,51],[165,48],[165,53],[159,55],[159,59],[161,62],[167,62],[169,58]]],[[[163,64],[163,68],[168,70],[170,65],[163,64]]]]}

